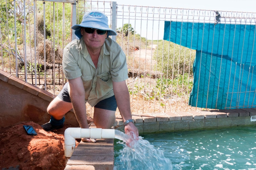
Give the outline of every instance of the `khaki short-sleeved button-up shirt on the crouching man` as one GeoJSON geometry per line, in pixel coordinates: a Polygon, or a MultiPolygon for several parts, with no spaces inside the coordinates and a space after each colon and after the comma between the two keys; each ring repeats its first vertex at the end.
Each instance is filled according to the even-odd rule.
{"type": "Polygon", "coordinates": [[[83,38],[71,41],[64,48],[62,64],[68,80],[82,78],[85,100],[91,106],[114,95],[112,81],[121,82],[128,78],[124,51],[111,38],[106,38],[101,48],[97,69],[83,38]]]}

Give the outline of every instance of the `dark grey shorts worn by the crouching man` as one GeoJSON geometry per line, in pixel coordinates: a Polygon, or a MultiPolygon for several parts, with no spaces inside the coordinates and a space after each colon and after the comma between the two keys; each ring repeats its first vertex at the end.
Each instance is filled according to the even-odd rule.
{"type": "MultiPolygon", "coordinates": [[[[71,103],[71,99],[70,99],[67,87],[68,87],[68,82],[64,85],[64,87],[61,90],[61,92],[59,93],[58,97],[62,101],[66,101],[66,102],[71,103]]],[[[106,98],[102,101],[99,101],[94,107],[99,108],[99,109],[106,109],[106,110],[116,111],[117,104],[116,104],[115,95],[113,95],[109,98],[106,98]]]]}

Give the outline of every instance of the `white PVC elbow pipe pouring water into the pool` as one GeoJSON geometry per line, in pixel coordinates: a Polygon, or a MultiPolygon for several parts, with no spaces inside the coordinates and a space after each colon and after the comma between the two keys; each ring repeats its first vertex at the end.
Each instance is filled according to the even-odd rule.
{"type": "Polygon", "coordinates": [[[75,139],[114,139],[115,129],[91,128],[82,129],[80,127],[69,127],[64,132],[64,153],[65,157],[71,157],[75,150],[75,139]]]}

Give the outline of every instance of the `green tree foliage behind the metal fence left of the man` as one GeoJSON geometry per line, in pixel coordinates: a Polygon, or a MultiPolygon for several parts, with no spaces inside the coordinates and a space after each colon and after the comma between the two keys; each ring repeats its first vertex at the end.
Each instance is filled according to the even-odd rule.
{"type": "MultiPolygon", "coordinates": [[[[77,12],[78,22],[81,22],[83,18],[83,9],[89,9],[87,2],[77,3],[80,10],[77,12]]],[[[24,62],[24,26],[26,26],[26,47],[34,49],[34,31],[36,29],[36,46],[37,53],[40,53],[40,47],[44,40],[44,28],[46,32],[46,43],[50,44],[50,49],[55,53],[62,51],[61,48],[66,46],[70,42],[71,31],[71,12],[72,5],[62,2],[50,2],[50,1],[0,1],[0,32],[1,32],[1,44],[0,49],[3,54],[3,63],[13,63],[15,66],[15,54],[18,54],[18,59],[24,62]],[[25,12],[24,12],[25,2],[25,12]],[[16,14],[14,10],[14,3],[16,14]],[[34,8],[35,7],[35,8],[34,8]],[[35,10],[35,11],[34,11],[35,10]],[[45,21],[44,21],[45,15],[45,21]],[[15,20],[16,17],[16,20],[15,20]],[[35,17],[35,21],[34,21],[35,17]],[[25,19],[25,21],[24,21],[25,19]],[[16,27],[15,27],[16,21],[16,27]],[[25,22],[25,23],[24,23],[25,22]],[[45,25],[44,25],[45,22],[45,25]],[[15,50],[15,28],[17,37],[17,52],[15,50]],[[55,42],[55,43],[53,43],[55,42]],[[53,46],[55,44],[55,46],[53,46]],[[38,48],[39,47],[39,48],[38,48]],[[21,54],[19,53],[21,52],[21,54]]],[[[44,50],[44,49],[42,49],[44,50]]],[[[29,51],[30,52],[30,51],[29,51]]],[[[40,57],[40,56],[39,56],[40,57]]],[[[12,67],[14,68],[14,67],[12,67]]]]}

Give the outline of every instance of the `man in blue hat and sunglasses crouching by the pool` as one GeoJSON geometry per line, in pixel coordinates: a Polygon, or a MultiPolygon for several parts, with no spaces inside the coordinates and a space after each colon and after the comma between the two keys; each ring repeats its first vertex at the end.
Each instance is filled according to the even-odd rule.
{"type": "MultiPolygon", "coordinates": [[[[94,106],[94,124],[109,129],[115,122],[118,107],[124,121],[125,133],[138,138],[132,122],[126,56],[109,35],[117,35],[108,27],[108,18],[92,10],[83,16],[80,25],[72,26],[76,40],[63,51],[63,72],[68,79],[60,94],[49,104],[50,122],[43,124],[46,131],[63,127],[64,115],[73,108],[81,128],[89,128],[86,102],[94,106]]],[[[82,139],[95,142],[94,139],[82,139]]]]}

